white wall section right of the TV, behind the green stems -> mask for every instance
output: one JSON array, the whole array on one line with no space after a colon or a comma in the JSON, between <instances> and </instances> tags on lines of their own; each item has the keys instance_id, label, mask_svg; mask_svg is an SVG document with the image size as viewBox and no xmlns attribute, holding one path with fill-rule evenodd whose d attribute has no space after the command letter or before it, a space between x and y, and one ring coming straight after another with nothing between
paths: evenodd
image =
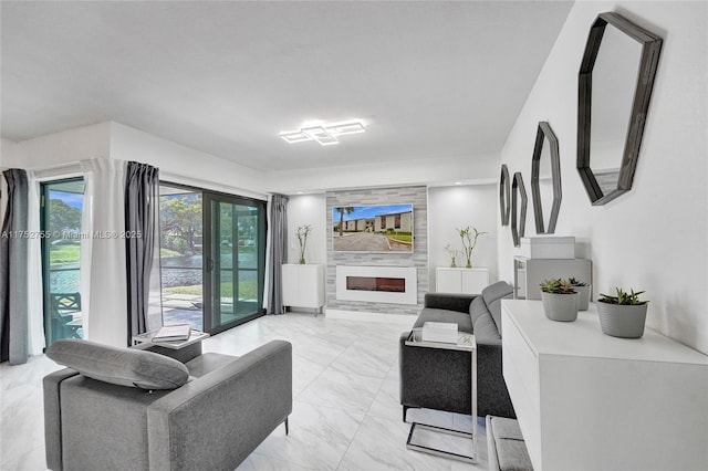
<instances>
[{"instance_id":1,"label":"white wall section right of the TV, behind the green stems","mask_svg":"<svg viewBox=\"0 0 708 471\"><path fill-rule=\"evenodd\" d=\"M428 270L430 291L436 290L435 269L450 266L450 257L445 251L448 243L462 250L456 230L466 227L489 232L480 236L472 252L472 266L488 268L489 280L498 279L497 270L497 186L460 185L428 188ZM465 255L456 259L457 266L465 266Z\"/></svg>"}]
</instances>

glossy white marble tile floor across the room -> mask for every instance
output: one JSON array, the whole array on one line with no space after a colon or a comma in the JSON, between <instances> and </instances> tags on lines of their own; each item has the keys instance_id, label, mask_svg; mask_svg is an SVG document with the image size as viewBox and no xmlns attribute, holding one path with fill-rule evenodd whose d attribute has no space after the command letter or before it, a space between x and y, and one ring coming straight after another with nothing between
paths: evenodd
<instances>
[{"instance_id":1,"label":"glossy white marble tile floor across the room","mask_svg":"<svg viewBox=\"0 0 708 471\"><path fill-rule=\"evenodd\" d=\"M398 336L413 317L361 323L304 313L264 316L205 341L205 352L242 355L271 339L293 344L290 435L279 427L238 468L251 470L486 470L483 418L476 464L406 448L410 426L398 404ZM45 470L42 377L59 369L43 355L0 365L0 469ZM466 416L409 410L417 420L460 430ZM416 431L417 443L467 453L470 441Z\"/></svg>"}]
</instances>

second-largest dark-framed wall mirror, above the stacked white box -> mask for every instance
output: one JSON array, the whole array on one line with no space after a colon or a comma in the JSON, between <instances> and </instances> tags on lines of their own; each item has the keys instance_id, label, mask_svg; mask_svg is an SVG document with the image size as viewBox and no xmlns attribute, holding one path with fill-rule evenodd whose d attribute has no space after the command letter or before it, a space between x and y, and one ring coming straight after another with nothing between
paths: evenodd
<instances>
[{"instance_id":1,"label":"second-largest dark-framed wall mirror, above the stacked white box","mask_svg":"<svg viewBox=\"0 0 708 471\"><path fill-rule=\"evenodd\" d=\"M561 158L558 138L546 122L539 123L531 158L531 195L535 232L552 234L561 209ZM543 214L549 214L545 224Z\"/></svg>"}]
</instances>

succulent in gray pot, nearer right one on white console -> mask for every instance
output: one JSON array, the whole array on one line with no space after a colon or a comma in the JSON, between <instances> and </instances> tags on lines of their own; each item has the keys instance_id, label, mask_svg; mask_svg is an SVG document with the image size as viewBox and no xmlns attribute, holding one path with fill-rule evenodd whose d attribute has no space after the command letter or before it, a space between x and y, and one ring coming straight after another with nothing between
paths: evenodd
<instances>
[{"instance_id":1,"label":"succulent in gray pot, nearer right one on white console","mask_svg":"<svg viewBox=\"0 0 708 471\"><path fill-rule=\"evenodd\" d=\"M602 332L613 337L639 338L644 335L648 301L639 300L644 291L627 293L615 287L615 295L601 294L597 300L597 314Z\"/></svg>"}]
</instances>

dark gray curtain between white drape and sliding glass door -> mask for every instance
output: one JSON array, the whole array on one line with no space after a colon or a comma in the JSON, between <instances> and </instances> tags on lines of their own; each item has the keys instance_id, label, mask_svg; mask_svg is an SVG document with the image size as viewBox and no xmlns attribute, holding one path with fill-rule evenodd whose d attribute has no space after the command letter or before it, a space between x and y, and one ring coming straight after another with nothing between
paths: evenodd
<instances>
[{"instance_id":1,"label":"dark gray curtain between white drape and sliding glass door","mask_svg":"<svg viewBox=\"0 0 708 471\"><path fill-rule=\"evenodd\" d=\"M155 250L159 241L158 205L159 170L128 161L125 176L128 345L133 335L149 329L150 279L154 269L159 273L159 250Z\"/></svg>"}]
</instances>

